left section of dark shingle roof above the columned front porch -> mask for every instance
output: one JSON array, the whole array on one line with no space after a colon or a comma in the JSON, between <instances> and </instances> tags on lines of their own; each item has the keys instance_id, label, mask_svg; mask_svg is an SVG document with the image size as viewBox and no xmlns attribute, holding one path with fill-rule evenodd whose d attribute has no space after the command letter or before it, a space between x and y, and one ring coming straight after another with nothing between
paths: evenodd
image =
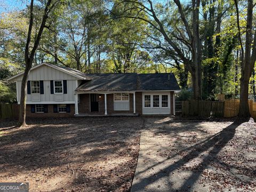
<instances>
[{"instance_id":1,"label":"left section of dark shingle roof above the columned front porch","mask_svg":"<svg viewBox=\"0 0 256 192\"><path fill-rule=\"evenodd\" d=\"M135 91L137 74L86 74L91 80L77 87L75 91Z\"/></svg>"}]
</instances>

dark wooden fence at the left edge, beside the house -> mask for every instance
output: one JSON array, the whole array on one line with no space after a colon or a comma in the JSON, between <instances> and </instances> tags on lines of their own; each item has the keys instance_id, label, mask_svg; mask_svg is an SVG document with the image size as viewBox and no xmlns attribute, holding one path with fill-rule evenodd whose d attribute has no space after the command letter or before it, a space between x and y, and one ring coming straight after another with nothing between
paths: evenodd
<instances>
[{"instance_id":1,"label":"dark wooden fence at the left edge, beside the house","mask_svg":"<svg viewBox=\"0 0 256 192\"><path fill-rule=\"evenodd\" d=\"M16 118L18 114L18 104L0 104L0 119Z\"/></svg>"}]
</instances>

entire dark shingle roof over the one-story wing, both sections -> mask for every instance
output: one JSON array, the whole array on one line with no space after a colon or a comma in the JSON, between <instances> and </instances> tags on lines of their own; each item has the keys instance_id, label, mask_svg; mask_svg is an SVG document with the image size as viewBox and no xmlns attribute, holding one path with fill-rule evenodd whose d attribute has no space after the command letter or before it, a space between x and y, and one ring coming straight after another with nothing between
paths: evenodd
<instances>
[{"instance_id":1,"label":"entire dark shingle roof over the one-story wing, both sections","mask_svg":"<svg viewBox=\"0 0 256 192\"><path fill-rule=\"evenodd\" d=\"M77 87L76 92L99 91L174 91L180 90L173 74L86 74L90 81Z\"/></svg>"}]
</instances>

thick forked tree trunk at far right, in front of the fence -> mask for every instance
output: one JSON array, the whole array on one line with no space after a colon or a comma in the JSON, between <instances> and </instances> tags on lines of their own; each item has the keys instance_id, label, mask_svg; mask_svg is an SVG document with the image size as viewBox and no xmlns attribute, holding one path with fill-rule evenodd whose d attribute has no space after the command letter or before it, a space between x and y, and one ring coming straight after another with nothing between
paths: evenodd
<instances>
[{"instance_id":1,"label":"thick forked tree trunk at far right, in front of the fence","mask_svg":"<svg viewBox=\"0 0 256 192\"><path fill-rule=\"evenodd\" d=\"M253 31L253 0L247 0L247 17L245 28L245 42L243 42L242 29L240 26L240 12L237 0L234 0L236 6L236 18L238 39L241 49L241 79L240 79L240 103L239 103L239 117L250 117L248 105L249 81L252 76L254 63L256 60L256 30ZM253 37L254 36L254 37Z\"/></svg>"}]
</instances>

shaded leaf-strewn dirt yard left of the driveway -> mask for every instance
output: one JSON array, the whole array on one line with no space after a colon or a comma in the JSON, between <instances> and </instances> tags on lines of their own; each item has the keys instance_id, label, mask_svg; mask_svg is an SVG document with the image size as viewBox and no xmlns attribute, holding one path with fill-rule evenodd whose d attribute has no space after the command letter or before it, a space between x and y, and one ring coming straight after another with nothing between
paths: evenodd
<instances>
[{"instance_id":1,"label":"shaded leaf-strewn dirt yard left of the driveway","mask_svg":"<svg viewBox=\"0 0 256 192\"><path fill-rule=\"evenodd\" d=\"M0 121L0 181L29 191L130 191L139 117Z\"/></svg>"}]
</instances>

